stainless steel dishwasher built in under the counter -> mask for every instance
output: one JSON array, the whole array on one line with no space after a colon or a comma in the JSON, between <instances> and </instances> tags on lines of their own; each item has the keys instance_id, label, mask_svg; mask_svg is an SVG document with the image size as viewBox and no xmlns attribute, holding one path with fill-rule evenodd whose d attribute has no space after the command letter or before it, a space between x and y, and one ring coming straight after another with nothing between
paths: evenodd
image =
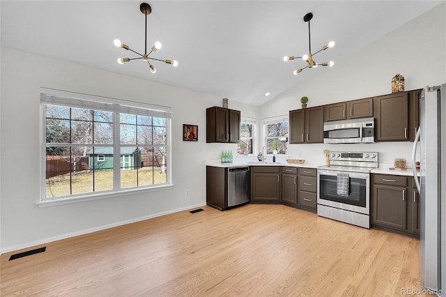
<instances>
[{"instance_id":1,"label":"stainless steel dishwasher built in under the counter","mask_svg":"<svg viewBox=\"0 0 446 297\"><path fill-rule=\"evenodd\" d=\"M249 167L228 169L228 207L249 202L250 180Z\"/></svg>"}]
</instances>

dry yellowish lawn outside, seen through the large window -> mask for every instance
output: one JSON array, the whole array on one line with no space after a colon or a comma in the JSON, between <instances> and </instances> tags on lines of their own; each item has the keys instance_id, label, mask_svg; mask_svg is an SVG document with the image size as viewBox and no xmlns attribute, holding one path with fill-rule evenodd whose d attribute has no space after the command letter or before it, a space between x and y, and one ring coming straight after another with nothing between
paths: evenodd
<instances>
[{"instance_id":1,"label":"dry yellowish lawn outside, seen through the large window","mask_svg":"<svg viewBox=\"0 0 446 297\"><path fill-rule=\"evenodd\" d=\"M141 185L157 185L166 183L167 174L160 167L143 167L138 170L121 170L121 188L132 188ZM94 188L93 188L94 183ZM81 172L72 175L70 189L70 174L47 178L47 197L74 195L89 192L113 190L113 171ZM93 190L94 189L94 190Z\"/></svg>"}]
</instances>

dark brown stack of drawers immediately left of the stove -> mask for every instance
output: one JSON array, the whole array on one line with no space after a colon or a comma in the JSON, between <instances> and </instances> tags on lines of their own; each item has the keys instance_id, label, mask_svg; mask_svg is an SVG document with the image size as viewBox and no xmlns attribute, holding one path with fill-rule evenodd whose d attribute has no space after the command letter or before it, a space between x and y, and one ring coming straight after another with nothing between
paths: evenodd
<instances>
[{"instance_id":1,"label":"dark brown stack of drawers immediately left of the stove","mask_svg":"<svg viewBox=\"0 0 446 297\"><path fill-rule=\"evenodd\" d=\"M299 168L298 206L316 212L317 169Z\"/></svg>"}]
</instances>

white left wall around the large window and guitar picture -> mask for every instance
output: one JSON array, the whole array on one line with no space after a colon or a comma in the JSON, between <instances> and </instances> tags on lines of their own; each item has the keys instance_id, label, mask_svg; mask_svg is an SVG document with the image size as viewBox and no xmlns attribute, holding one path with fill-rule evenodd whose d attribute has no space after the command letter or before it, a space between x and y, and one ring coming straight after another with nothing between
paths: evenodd
<instances>
[{"instance_id":1,"label":"white left wall around the large window and guitar picture","mask_svg":"<svg viewBox=\"0 0 446 297\"><path fill-rule=\"evenodd\" d=\"M221 98L1 48L1 252L206 204L206 160L237 144L206 144L206 108ZM172 107L173 190L39 208L40 87ZM259 107L236 104L244 116ZM183 142L183 123L199 141ZM190 190L190 196L185 195Z\"/></svg>"}]
</instances>

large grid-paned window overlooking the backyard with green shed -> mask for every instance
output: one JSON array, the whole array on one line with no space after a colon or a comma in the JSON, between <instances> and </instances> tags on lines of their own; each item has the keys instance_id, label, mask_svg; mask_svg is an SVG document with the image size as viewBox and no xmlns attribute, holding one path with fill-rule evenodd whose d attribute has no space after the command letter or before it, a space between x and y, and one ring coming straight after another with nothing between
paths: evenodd
<instances>
[{"instance_id":1,"label":"large grid-paned window overlooking the backyard with green shed","mask_svg":"<svg viewBox=\"0 0 446 297\"><path fill-rule=\"evenodd\" d=\"M171 185L169 107L41 89L40 201Z\"/></svg>"}]
</instances>

